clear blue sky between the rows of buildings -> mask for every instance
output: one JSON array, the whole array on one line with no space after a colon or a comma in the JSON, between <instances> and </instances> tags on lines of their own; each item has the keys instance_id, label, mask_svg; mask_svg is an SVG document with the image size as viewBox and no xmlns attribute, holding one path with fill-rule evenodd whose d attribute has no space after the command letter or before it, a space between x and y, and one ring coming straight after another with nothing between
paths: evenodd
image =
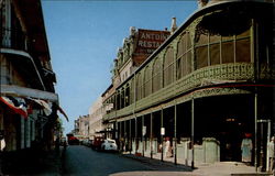
<instances>
[{"instance_id":1,"label":"clear blue sky between the rows of buildings","mask_svg":"<svg viewBox=\"0 0 275 176\"><path fill-rule=\"evenodd\" d=\"M61 117L66 134L110 86L112 63L130 26L169 29L173 16L182 25L197 0L42 0L42 9L56 94L69 117L69 122Z\"/></svg>"}]
</instances>

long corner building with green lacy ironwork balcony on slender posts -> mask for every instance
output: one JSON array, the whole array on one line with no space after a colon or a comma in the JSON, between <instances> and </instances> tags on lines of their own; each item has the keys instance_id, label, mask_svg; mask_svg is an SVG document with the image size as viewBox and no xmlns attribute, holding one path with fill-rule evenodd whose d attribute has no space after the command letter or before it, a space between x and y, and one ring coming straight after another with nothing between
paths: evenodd
<instances>
[{"instance_id":1,"label":"long corner building with green lacy ironwork balcony on slender posts","mask_svg":"<svg viewBox=\"0 0 275 176\"><path fill-rule=\"evenodd\" d=\"M187 165L242 161L266 165L274 135L273 3L212 0L196 11L103 106L120 148ZM248 134L248 135L246 135Z\"/></svg>"}]
</instances>

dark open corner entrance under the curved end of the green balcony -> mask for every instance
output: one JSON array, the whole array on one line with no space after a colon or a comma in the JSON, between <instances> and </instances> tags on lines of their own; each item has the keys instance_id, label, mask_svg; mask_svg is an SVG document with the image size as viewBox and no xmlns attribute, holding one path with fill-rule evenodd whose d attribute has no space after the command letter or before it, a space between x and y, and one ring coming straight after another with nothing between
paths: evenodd
<instances>
[{"instance_id":1,"label":"dark open corner entrance under the curved end of the green balcony","mask_svg":"<svg viewBox=\"0 0 275 176\"><path fill-rule=\"evenodd\" d=\"M241 162L241 143L245 133L253 141L253 97L217 96L195 101L195 143L215 138L220 145L221 162ZM252 157L253 158L253 157Z\"/></svg>"}]
</instances>

